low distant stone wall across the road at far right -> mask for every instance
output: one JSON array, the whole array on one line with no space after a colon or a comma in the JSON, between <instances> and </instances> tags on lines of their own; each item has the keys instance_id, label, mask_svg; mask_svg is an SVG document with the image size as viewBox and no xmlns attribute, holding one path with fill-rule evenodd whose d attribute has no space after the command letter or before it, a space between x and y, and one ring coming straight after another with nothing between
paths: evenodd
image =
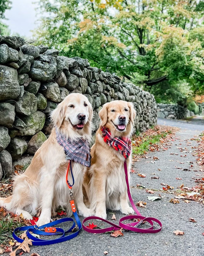
<instances>
[{"instance_id":1,"label":"low distant stone wall across the road at far right","mask_svg":"<svg viewBox=\"0 0 204 256\"><path fill-rule=\"evenodd\" d=\"M184 119L188 116L194 116L192 111L178 104L157 104L157 116L168 119Z\"/></svg>"}]
</instances>

